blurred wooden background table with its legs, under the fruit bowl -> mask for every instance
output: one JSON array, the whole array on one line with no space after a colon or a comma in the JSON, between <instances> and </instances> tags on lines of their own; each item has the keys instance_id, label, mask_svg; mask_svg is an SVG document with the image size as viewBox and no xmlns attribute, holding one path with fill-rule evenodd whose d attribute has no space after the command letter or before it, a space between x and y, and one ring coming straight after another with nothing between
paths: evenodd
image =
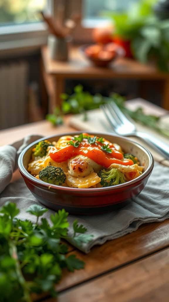
<instances>
[{"instance_id":1,"label":"blurred wooden background table with its legs, under the fruit bowl","mask_svg":"<svg viewBox=\"0 0 169 302\"><path fill-rule=\"evenodd\" d=\"M70 49L69 61L51 60L47 46L42 47L42 76L49 95L49 112L60 104L60 94L64 92L66 79L142 79L162 80L162 107L169 110L169 74L154 66L144 65L127 58L117 59L110 68L92 66L84 59L78 47ZM145 97L145 95L140 95Z\"/></svg>"}]
</instances>

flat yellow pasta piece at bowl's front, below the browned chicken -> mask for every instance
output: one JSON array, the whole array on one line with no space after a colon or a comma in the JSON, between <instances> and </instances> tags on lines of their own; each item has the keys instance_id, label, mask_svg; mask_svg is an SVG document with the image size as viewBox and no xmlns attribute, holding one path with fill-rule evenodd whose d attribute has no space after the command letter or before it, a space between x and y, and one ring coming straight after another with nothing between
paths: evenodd
<instances>
[{"instance_id":1,"label":"flat yellow pasta piece at bowl's front, below the browned chicken","mask_svg":"<svg viewBox=\"0 0 169 302\"><path fill-rule=\"evenodd\" d=\"M92 172L85 177L73 177L70 173L66 173L66 184L73 188L90 188L101 181L97 173Z\"/></svg>"}]
</instances>

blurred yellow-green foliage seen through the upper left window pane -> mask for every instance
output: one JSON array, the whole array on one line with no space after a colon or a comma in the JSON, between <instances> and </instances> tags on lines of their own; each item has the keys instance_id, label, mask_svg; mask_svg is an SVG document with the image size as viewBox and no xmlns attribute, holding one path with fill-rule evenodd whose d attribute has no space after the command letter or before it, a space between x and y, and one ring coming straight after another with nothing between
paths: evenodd
<instances>
[{"instance_id":1,"label":"blurred yellow-green foliage seen through the upper left window pane","mask_svg":"<svg viewBox=\"0 0 169 302\"><path fill-rule=\"evenodd\" d=\"M41 21L46 0L0 0L0 26Z\"/></svg>"}]
</instances>

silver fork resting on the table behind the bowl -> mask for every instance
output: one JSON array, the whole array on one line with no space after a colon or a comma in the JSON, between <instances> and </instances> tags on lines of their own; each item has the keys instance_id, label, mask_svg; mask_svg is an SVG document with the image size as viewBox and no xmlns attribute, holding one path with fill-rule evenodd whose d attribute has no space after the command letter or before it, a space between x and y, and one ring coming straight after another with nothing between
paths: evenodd
<instances>
[{"instance_id":1,"label":"silver fork resting on the table behind the bowl","mask_svg":"<svg viewBox=\"0 0 169 302\"><path fill-rule=\"evenodd\" d=\"M152 135L137 131L135 125L127 118L118 106L114 103L108 103L101 106L109 123L112 125L115 133L121 136L136 136L146 141L150 146L156 149L166 159L169 159L169 145L161 142Z\"/></svg>"}]
</instances>

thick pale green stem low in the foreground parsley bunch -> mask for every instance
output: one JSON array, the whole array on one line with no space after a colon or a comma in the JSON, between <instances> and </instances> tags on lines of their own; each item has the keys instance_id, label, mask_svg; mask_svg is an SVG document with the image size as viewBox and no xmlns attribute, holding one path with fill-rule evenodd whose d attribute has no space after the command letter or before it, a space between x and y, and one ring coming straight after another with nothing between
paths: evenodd
<instances>
[{"instance_id":1,"label":"thick pale green stem low in the foreground parsley bunch","mask_svg":"<svg viewBox=\"0 0 169 302\"><path fill-rule=\"evenodd\" d=\"M9 253L11 257L16 261L15 270L18 277L18 281L23 288L23 294L24 294L23 299L25 300L25 302L31 302L32 300L29 294L29 289L27 287L26 280L23 277L22 270L20 268L20 262L17 257L17 247L15 246L14 241L12 240L9 240Z\"/></svg>"}]
</instances>

